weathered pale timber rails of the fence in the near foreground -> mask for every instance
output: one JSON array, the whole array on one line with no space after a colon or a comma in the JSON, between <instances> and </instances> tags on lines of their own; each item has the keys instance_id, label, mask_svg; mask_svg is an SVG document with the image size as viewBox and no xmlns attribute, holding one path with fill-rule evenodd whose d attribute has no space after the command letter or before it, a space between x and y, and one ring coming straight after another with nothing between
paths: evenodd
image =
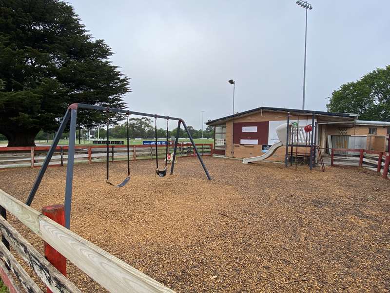
<instances>
[{"instance_id":1,"label":"weathered pale timber rails of the fence in the near foreground","mask_svg":"<svg viewBox=\"0 0 390 293\"><path fill-rule=\"evenodd\" d=\"M69 293L80 292L80 290L7 222L5 210L13 214L53 249L57 250L63 257L67 258L109 292L173 292L1 189L0 205L0 231L2 236L2 242L0 242L0 275L4 284L9 288L9 292L42 292L42 289L9 251L10 246L52 292Z\"/></svg>"}]
</instances>

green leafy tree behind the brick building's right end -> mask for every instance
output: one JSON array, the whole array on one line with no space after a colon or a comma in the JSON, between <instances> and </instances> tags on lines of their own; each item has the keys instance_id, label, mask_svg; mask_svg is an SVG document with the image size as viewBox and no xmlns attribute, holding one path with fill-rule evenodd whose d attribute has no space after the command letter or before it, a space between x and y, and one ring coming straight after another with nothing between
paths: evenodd
<instances>
[{"instance_id":1,"label":"green leafy tree behind the brick building's right end","mask_svg":"<svg viewBox=\"0 0 390 293\"><path fill-rule=\"evenodd\" d=\"M390 65L333 91L330 112L357 113L359 119L390 121Z\"/></svg>"}]
</instances>

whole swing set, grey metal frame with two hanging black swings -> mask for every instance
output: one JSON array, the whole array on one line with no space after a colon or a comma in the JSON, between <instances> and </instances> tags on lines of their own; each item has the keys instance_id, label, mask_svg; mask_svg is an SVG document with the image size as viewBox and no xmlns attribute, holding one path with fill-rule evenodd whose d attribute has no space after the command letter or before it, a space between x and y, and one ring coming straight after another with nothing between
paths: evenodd
<instances>
[{"instance_id":1,"label":"whole swing set, grey metal frame with two hanging black swings","mask_svg":"<svg viewBox=\"0 0 390 293\"><path fill-rule=\"evenodd\" d=\"M175 167L175 157L176 157L176 149L177 149L177 143L179 139L179 131L180 131L180 125L183 125L184 130L187 132L188 137L190 138L191 144L194 147L196 156L203 167L203 170L206 174L206 177L208 180L211 180L209 171L207 170L207 167L204 165L202 157L200 156L196 145L194 143L194 140L188 131L187 125L181 118L175 118L175 117L169 117L169 116L162 116L162 115L156 115L156 114L149 114L149 113L142 113L142 112L135 112L135 111L129 111L129 110L122 110L122 109L116 109L116 108L110 108L110 107L103 107L103 106L96 106L96 105L87 105L87 104L72 104L68 107L66 110L65 116L62 118L61 124L59 126L58 131L56 132L56 135L53 140L53 144L50 146L50 149L45 157L45 160L43 161L43 164L41 168L39 169L39 173L37 176L37 179L35 180L35 183L33 185L33 188L31 189L28 198L26 200L26 205L31 206L31 203L34 200L35 194L37 193L37 190L39 188L39 184L42 181L43 175L46 172L47 167L49 166L50 160L53 156L54 151L56 150L56 147L59 143L59 139L67 126L68 122L70 121L70 130L69 130L69 149L68 149L68 164L66 167L66 182L65 182L65 227L67 229L70 228L70 213L71 213L71 204L72 204L72 189L73 189L73 167L74 167L74 160L75 160L75 141L76 141L76 124L77 124L77 111L78 108L80 109L87 109L87 110L98 110L102 112L107 113L107 142L106 142L106 148L107 148L107 162L106 162L106 182L107 184L121 188L125 186L130 181L130 142L129 142L129 116L130 115L137 115L137 116L146 116L146 117L154 117L155 118L155 133L156 133L156 174L159 177L164 177L167 174L167 160L165 160L165 167L163 170L159 170L158 168L158 158L157 158L157 118L162 118L167 120L167 142L166 142L166 156L168 155L168 122L169 120L176 120L177 123L177 133L176 133L176 140L174 145L174 152L173 152L173 158L172 158L172 164L171 164L171 171L170 174L172 175L174 173L174 167ZM114 113L122 113L127 114L127 177L119 184L115 185L110 182L109 180L109 112Z\"/></svg>"}]
</instances>

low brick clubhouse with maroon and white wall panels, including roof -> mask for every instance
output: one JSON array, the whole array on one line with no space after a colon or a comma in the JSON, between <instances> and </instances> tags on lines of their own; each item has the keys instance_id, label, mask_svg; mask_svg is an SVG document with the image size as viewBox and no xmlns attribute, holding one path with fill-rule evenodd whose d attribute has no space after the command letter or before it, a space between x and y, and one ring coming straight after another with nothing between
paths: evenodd
<instances>
[{"instance_id":1,"label":"low brick clubhouse with maroon and white wall panels, including roof","mask_svg":"<svg viewBox=\"0 0 390 293\"><path fill-rule=\"evenodd\" d=\"M361 121L357 114L331 113L299 109L259 107L234 115L209 120L206 124L215 126L215 154L234 158L259 156L278 142L275 128L290 121L302 128L317 126L315 142L323 152L327 147L367 148L388 150L390 122ZM279 147L269 158L284 161L285 147ZM300 152L310 149L301 148Z\"/></svg>"}]
</instances>

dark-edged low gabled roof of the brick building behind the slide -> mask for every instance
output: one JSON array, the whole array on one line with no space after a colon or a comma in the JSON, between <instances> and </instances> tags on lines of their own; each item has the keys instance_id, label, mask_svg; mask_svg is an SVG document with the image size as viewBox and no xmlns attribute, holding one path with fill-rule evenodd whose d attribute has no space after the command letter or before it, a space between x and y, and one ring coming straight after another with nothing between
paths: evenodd
<instances>
[{"instance_id":1,"label":"dark-edged low gabled roof of the brick building behind the slide","mask_svg":"<svg viewBox=\"0 0 390 293\"><path fill-rule=\"evenodd\" d=\"M206 124L207 125L218 125L222 122L241 117L241 116L247 116L256 112L260 111L275 111L275 112L292 112L292 113L302 113L302 114L307 114L307 115L314 115L318 116L332 116L332 117L340 117L340 118L350 118L350 119L356 119L357 114L352 114L352 113L337 113L337 112L325 112L325 111L313 111L313 110L302 110L302 109L287 109L287 108L275 108L275 107L258 107L254 108L252 110L244 111L244 112L239 112L234 115L229 115L225 116L222 118L218 118L215 120L210 120Z\"/></svg>"}]
</instances>

